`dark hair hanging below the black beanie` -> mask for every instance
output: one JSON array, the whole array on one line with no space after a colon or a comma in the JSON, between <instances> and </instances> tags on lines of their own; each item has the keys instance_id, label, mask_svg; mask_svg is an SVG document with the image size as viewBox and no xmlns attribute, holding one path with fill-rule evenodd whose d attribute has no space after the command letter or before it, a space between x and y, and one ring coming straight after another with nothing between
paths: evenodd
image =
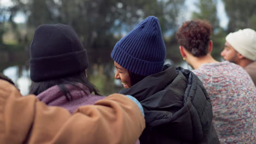
<instances>
[{"instance_id":1,"label":"dark hair hanging below the black beanie","mask_svg":"<svg viewBox=\"0 0 256 144\"><path fill-rule=\"evenodd\" d=\"M84 91L84 89L79 86L80 84L88 87L91 93L94 92L96 95L100 95L98 94L95 86L86 78L85 71L83 71L80 74L72 75L69 77L63 77L60 79L32 82L32 85L30 87L30 94L38 95L44 92L46 89L57 85L59 86L61 92L65 95L66 99L69 101L72 100L72 95L69 93L65 85L72 85Z\"/></svg>"}]
</instances>

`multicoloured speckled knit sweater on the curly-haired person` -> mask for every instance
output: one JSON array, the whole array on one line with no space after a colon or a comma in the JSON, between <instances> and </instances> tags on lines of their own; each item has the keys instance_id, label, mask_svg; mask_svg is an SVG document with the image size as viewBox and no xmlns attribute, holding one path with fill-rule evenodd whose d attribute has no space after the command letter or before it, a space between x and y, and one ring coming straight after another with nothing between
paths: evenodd
<instances>
[{"instance_id":1,"label":"multicoloured speckled knit sweater on the curly-haired person","mask_svg":"<svg viewBox=\"0 0 256 144\"><path fill-rule=\"evenodd\" d=\"M210 95L220 143L254 143L256 88L246 71L230 62L193 70Z\"/></svg>"}]
</instances>

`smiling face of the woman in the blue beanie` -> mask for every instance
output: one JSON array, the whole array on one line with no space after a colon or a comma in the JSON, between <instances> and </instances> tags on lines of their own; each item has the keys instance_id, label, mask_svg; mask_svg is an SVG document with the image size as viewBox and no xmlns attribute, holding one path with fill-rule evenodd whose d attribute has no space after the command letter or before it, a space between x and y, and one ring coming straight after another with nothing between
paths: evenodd
<instances>
[{"instance_id":1,"label":"smiling face of the woman in the blue beanie","mask_svg":"<svg viewBox=\"0 0 256 144\"><path fill-rule=\"evenodd\" d=\"M115 65L115 79L120 79L124 88L131 87L131 78L129 75L129 71L125 68L121 67L117 62L114 62Z\"/></svg>"}]
</instances>

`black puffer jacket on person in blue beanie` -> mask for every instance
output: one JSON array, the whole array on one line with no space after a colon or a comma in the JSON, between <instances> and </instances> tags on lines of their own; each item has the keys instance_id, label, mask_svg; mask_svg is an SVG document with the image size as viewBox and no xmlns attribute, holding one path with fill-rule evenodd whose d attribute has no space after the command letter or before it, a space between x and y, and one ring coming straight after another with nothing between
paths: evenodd
<instances>
[{"instance_id":1,"label":"black puffer jacket on person in blue beanie","mask_svg":"<svg viewBox=\"0 0 256 144\"><path fill-rule=\"evenodd\" d=\"M141 143L219 143L210 98L191 71L165 65L120 93L133 95L144 108Z\"/></svg>"}]
</instances>

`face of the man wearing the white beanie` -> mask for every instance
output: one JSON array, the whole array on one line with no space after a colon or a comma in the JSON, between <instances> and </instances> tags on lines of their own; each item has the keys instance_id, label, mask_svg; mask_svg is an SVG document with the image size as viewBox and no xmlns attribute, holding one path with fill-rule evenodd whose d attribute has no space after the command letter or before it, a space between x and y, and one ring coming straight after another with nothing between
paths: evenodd
<instances>
[{"instance_id":1,"label":"face of the man wearing the white beanie","mask_svg":"<svg viewBox=\"0 0 256 144\"><path fill-rule=\"evenodd\" d=\"M226 41L224 50L220 53L223 59L236 63L238 60L238 52Z\"/></svg>"}]
</instances>

